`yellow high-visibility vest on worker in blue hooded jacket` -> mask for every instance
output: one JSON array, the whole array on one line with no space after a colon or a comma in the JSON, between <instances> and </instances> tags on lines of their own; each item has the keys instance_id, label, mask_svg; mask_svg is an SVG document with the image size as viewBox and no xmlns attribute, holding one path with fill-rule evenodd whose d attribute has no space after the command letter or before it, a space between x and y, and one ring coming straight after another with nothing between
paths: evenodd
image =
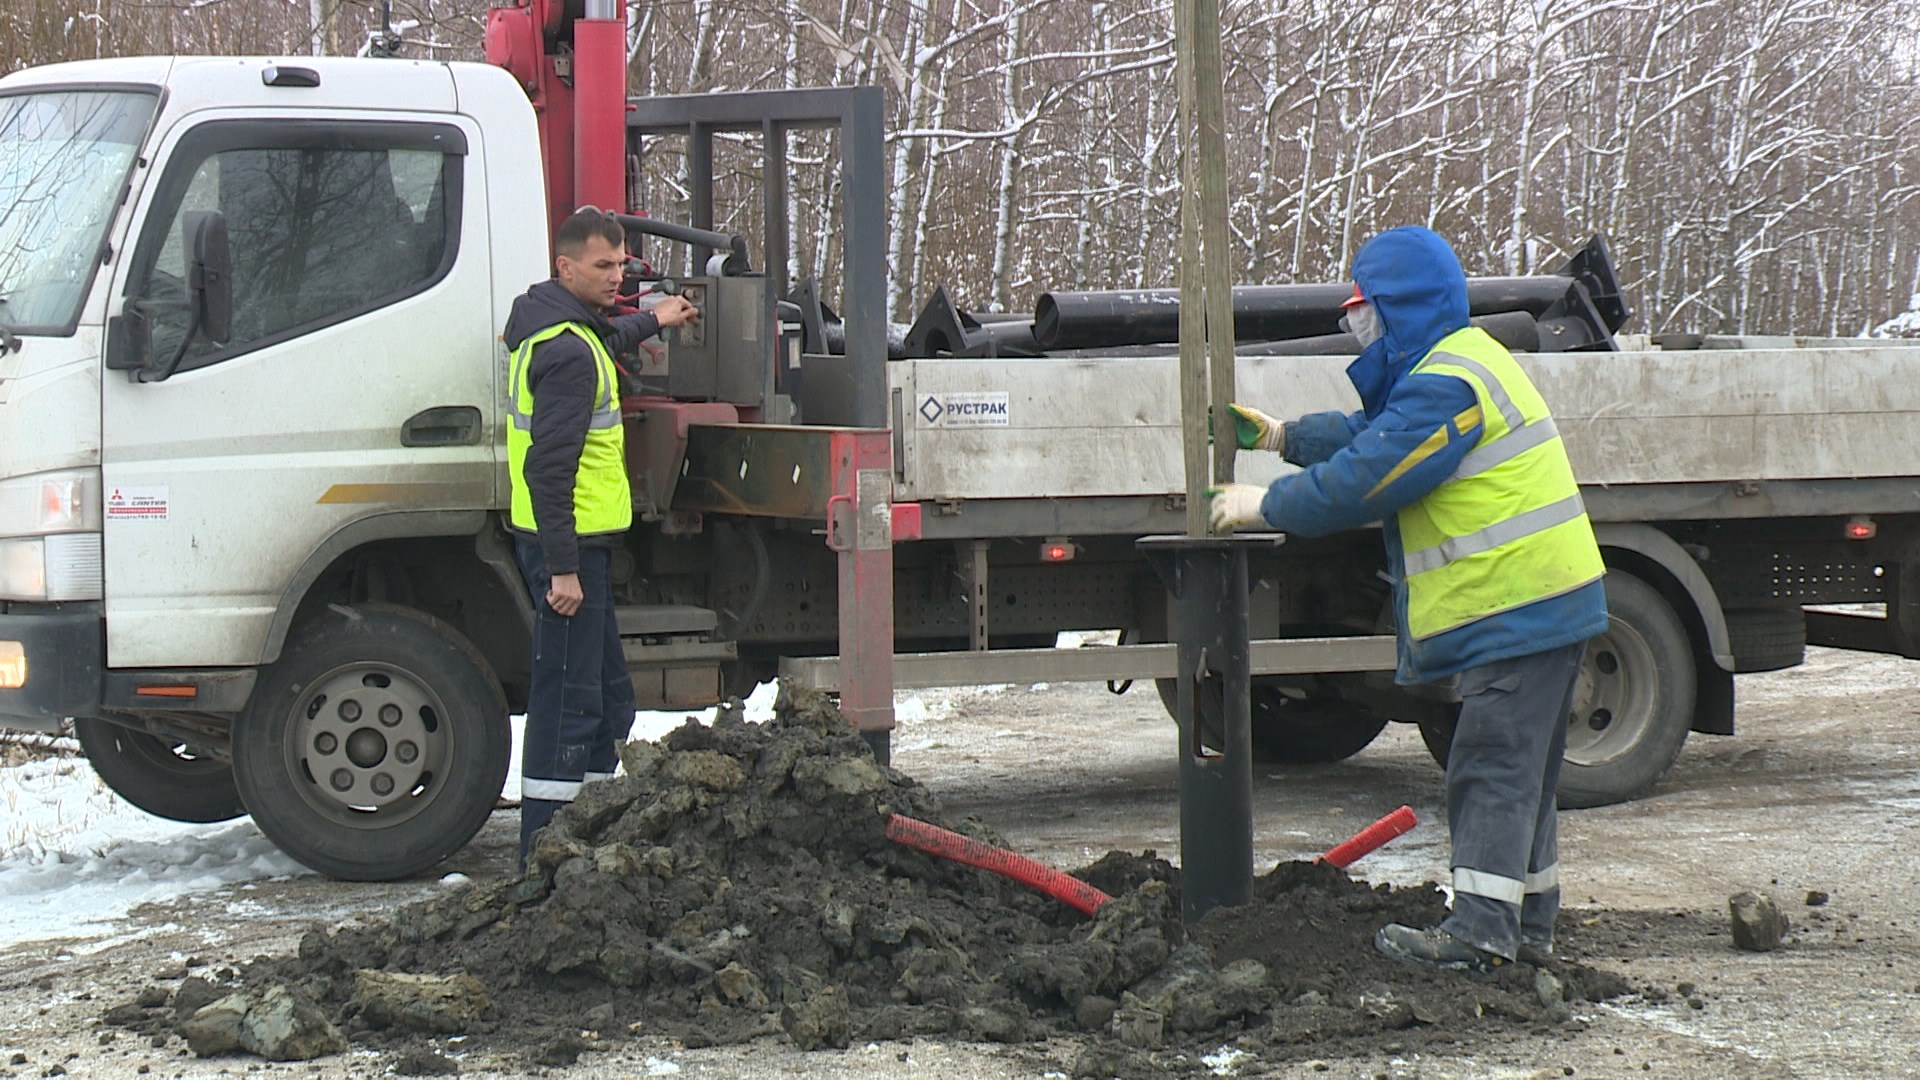
<instances>
[{"instance_id":1,"label":"yellow high-visibility vest on worker in blue hooded jacket","mask_svg":"<svg viewBox=\"0 0 1920 1080\"><path fill-rule=\"evenodd\" d=\"M1400 511L1407 634L1444 634L1605 573L1546 400L1484 331L1448 334L1415 373L1473 386L1480 440L1438 488Z\"/></svg>"}]
</instances>

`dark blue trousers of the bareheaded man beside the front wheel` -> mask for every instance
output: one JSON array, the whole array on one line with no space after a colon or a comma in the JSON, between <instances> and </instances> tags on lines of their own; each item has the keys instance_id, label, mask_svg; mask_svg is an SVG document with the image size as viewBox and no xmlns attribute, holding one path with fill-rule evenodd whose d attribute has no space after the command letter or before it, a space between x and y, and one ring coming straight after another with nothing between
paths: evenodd
<instances>
[{"instance_id":1,"label":"dark blue trousers of the bareheaded man beside the front wheel","mask_svg":"<svg viewBox=\"0 0 1920 1080\"><path fill-rule=\"evenodd\" d=\"M614 623L612 550L580 546L580 592L570 617L547 605L547 555L515 536L515 555L534 598L534 678L520 742L520 867L559 809L588 780L612 776L618 746L634 728L634 678Z\"/></svg>"}]
</instances>

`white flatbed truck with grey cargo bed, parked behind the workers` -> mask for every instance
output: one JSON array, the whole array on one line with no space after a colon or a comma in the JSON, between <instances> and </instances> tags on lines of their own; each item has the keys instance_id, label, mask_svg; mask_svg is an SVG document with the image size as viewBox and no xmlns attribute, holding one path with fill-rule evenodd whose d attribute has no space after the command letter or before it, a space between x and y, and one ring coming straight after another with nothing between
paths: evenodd
<instances>
[{"instance_id":1,"label":"white flatbed truck with grey cargo bed, parked behind the workers","mask_svg":"<svg viewBox=\"0 0 1920 1080\"><path fill-rule=\"evenodd\" d=\"M772 133L822 100L676 108ZM877 90L831 100L868 117L847 131L849 208L877 215ZM632 148L678 123L655 106L628 110ZM551 158L526 79L493 65L132 58L0 81L0 723L71 717L134 805L252 813L336 876L419 872L478 830L530 625L501 525L497 331L547 275ZM864 311L872 240L849 242ZM893 682L1173 673L1133 546L1183 521L1171 361L801 363L772 284L732 273L684 284L741 350L676 340L666 371L636 371L643 505L618 578L643 705L710 703L781 667L847 682L835 632L858 594L818 532L887 548L887 505ZM1732 732L1734 673L1799 663L1807 640L1920 655L1903 586L1920 350L1690 344L1530 361L1613 569L1613 628L1569 717L1569 805L1634 798L1690 730ZM1342 365L1246 357L1240 398L1352 407ZM849 540L831 502L787 490L826 454L766 423L795 413L893 429L877 532L862 519ZM1384 680L1379 575L1379 546L1352 536L1256 565L1258 751L1334 761L1402 719L1444 757L1448 703ZM1046 648L1071 628L1127 636Z\"/></svg>"}]
</instances>

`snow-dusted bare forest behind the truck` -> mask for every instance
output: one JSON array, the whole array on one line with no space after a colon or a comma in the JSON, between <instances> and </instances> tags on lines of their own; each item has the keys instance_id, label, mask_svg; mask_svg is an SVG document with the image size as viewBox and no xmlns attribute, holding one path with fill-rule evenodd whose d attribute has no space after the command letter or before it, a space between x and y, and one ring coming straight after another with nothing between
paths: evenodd
<instances>
[{"instance_id":1,"label":"snow-dusted bare forest behind the truck","mask_svg":"<svg viewBox=\"0 0 1920 1080\"><path fill-rule=\"evenodd\" d=\"M476 0L394 0L405 56L480 58ZM10 0L0 67L359 52L369 0ZM1173 281L1167 0L674 0L630 17L636 94L887 88L891 307ZM1920 292L1912 0L1227 0L1235 277L1338 281L1388 225L1469 273L1607 233L1638 331L1855 334ZM674 215L672 148L649 209ZM758 229L756 142L720 154ZM831 296L833 146L797 138L793 269Z\"/></svg>"}]
</instances>

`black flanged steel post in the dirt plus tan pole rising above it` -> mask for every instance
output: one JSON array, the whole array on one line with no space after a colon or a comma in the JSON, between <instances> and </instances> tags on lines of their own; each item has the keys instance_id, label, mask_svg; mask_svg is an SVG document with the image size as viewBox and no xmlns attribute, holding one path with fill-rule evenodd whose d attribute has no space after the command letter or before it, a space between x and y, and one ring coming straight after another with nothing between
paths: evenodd
<instances>
[{"instance_id":1,"label":"black flanged steel post in the dirt plus tan pole rising above it","mask_svg":"<svg viewBox=\"0 0 1920 1080\"><path fill-rule=\"evenodd\" d=\"M1169 594L1179 648L1181 917L1198 920L1254 894L1252 671L1248 550L1277 536L1213 536L1208 496L1233 480L1235 332L1227 242L1227 140L1219 0L1175 0L1181 119L1181 446L1187 534L1146 536ZM1221 438L1210 452L1210 413ZM1206 746L1210 724L1219 746Z\"/></svg>"}]
</instances>

